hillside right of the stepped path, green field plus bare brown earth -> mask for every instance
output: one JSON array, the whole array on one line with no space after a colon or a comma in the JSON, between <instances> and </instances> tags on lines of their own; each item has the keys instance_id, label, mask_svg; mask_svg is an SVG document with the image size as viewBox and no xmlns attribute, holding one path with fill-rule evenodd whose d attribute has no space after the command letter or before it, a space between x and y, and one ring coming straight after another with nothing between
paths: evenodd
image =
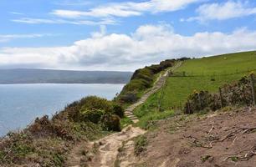
<instances>
[{"instance_id":1,"label":"hillside right of the stepped path, green field plus bare brown earth","mask_svg":"<svg viewBox=\"0 0 256 167\"><path fill-rule=\"evenodd\" d=\"M117 166L255 166L256 109L247 77L255 68L255 52L183 62L161 90L134 110L140 120L136 125L147 132L120 147ZM188 100L209 102L205 92L220 101L219 88L233 104L184 114Z\"/></svg>"}]
</instances>

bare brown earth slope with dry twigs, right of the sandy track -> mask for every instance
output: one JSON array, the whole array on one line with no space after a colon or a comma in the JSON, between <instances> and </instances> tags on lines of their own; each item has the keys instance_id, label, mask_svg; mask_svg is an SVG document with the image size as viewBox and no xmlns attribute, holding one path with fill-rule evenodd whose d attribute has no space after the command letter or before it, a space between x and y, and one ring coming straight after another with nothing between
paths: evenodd
<instances>
[{"instance_id":1,"label":"bare brown earth slope with dry twigs, right of the sandy track","mask_svg":"<svg viewBox=\"0 0 256 167\"><path fill-rule=\"evenodd\" d=\"M256 109L161 120L139 162L126 166L255 167Z\"/></svg>"}]
</instances>

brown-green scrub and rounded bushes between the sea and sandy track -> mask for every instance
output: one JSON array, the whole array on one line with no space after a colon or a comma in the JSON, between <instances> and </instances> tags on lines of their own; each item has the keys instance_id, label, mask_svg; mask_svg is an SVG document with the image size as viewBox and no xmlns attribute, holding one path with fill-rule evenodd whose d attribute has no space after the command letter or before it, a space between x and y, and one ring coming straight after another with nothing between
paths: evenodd
<instances>
[{"instance_id":1,"label":"brown-green scrub and rounded bushes between the sea and sandy track","mask_svg":"<svg viewBox=\"0 0 256 167\"><path fill-rule=\"evenodd\" d=\"M123 109L112 101L95 96L81 99L52 119L36 119L22 132L1 139L0 165L63 166L75 142L119 131L123 115Z\"/></svg>"}]
</instances>

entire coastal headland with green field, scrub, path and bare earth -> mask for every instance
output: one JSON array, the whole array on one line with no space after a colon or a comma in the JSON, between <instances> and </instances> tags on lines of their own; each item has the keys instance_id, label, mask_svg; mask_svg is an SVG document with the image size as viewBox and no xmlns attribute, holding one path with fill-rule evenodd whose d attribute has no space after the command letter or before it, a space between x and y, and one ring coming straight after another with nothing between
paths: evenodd
<instances>
[{"instance_id":1,"label":"entire coastal headland with green field, scrub, path and bare earth","mask_svg":"<svg viewBox=\"0 0 256 167\"><path fill-rule=\"evenodd\" d=\"M166 60L138 69L113 101L81 99L53 119L36 119L0 139L0 164L253 167L256 110L246 76L253 76L255 64L256 53L247 52ZM219 107L215 93L220 87L232 95L227 97L233 104ZM205 108L212 103L206 92L219 108ZM185 114L188 100L202 102L201 108ZM136 124L124 108L136 115Z\"/></svg>"}]
</instances>

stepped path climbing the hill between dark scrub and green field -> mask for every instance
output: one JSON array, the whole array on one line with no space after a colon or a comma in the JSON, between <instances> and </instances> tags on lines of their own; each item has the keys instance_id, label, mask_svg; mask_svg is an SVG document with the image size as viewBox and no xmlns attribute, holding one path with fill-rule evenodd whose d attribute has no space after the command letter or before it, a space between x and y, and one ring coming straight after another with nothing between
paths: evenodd
<instances>
[{"instance_id":1,"label":"stepped path climbing the hill between dark scrub and green field","mask_svg":"<svg viewBox=\"0 0 256 167\"><path fill-rule=\"evenodd\" d=\"M151 88L150 91L148 91L146 94L144 94L141 99L139 99L135 104L131 104L127 109L125 109L125 115L131 119L134 123L139 122L139 119L136 117L136 115L133 114L133 110L136 109L137 106L143 104L146 102L146 99L150 97L151 94L156 93L157 90L161 89L161 87L165 84L166 78L168 77L168 74L171 70L174 70L176 68L179 68L182 65L182 62L177 63L174 67L166 70L166 73L161 74L154 84L153 88Z\"/></svg>"}]
</instances>

